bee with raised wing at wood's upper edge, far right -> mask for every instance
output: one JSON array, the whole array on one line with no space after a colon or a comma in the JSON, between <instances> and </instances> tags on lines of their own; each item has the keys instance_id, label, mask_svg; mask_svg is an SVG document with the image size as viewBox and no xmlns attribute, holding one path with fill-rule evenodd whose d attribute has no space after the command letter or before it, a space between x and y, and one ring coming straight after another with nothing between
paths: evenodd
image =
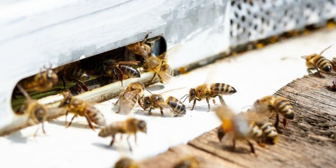
<instances>
[{"instance_id":1,"label":"bee with raised wing at wood's upper edge, far right","mask_svg":"<svg viewBox=\"0 0 336 168\"><path fill-rule=\"evenodd\" d=\"M322 53L330 47L331 46L321 51L320 54L313 53L311 55L304 55L301 57L302 59L306 60L305 65L307 66L308 73L312 73L311 70L316 69L319 76L322 77L320 70L323 70L325 72L331 72L332 67L335 65L333 65L333 63L325 57L322 57Z\"/></svg>"}]
</instances>

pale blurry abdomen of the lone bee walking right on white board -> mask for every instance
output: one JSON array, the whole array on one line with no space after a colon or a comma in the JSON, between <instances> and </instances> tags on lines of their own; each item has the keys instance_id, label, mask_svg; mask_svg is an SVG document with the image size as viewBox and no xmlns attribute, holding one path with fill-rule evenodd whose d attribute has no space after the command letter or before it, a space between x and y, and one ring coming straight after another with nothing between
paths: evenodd
<instances>
[{"instance_id":1,"label":"pale blurry abdomen of the lone bee walking right on white board","mask_svg":"<svg viewBox=\"0 0 336 168\"><path fill-rule=\"evenodd\" d=\"M103 129L101 129L98 136L101 137L114 136L117 133L126 133L126 129L127 129L127 123L118 121L110 125L107 125Z\"/></svg>"}]
</instances>

